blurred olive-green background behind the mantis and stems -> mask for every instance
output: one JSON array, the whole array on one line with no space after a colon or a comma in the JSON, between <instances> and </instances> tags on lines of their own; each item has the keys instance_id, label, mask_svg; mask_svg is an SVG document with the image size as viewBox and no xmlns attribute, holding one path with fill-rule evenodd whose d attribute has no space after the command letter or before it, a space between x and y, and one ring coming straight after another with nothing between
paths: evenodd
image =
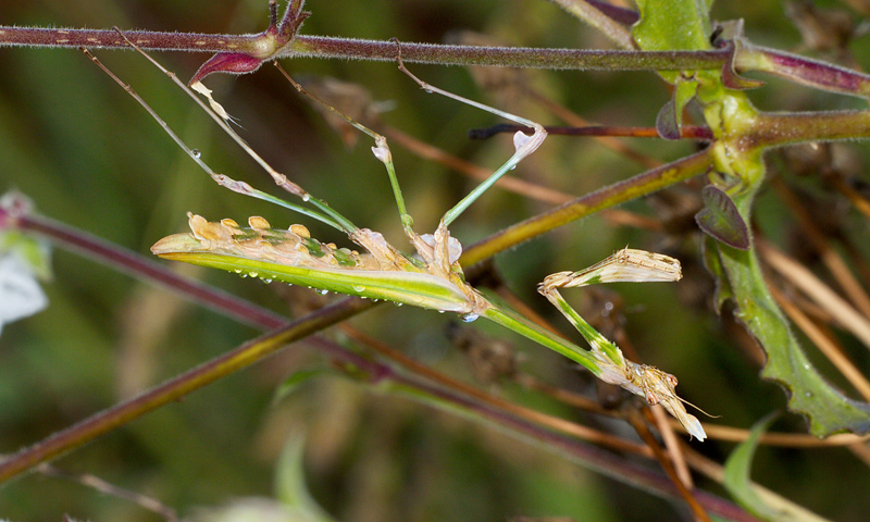
<instances>
[{"instance_id":1,"label":"blurred olive-green background behind the mantis and stems","mask_svg":"<svg viewBox=\"0 0 870 522\"><path fill-rule=\"evenodd\" d=\"M0 5L0 24L7 25L253 33L268 23L265 0L67 0ZM468 29L506 45L609 47L600 35L543 0L310 0L306 7L313 15L302 33L311 35L438 42ZM717 5L713 17L744 17L754 41L797 49L800 35L783 10L780 2L728 1ZM870 63L868 38L855 40L850 49L858 63ZM268 176L142 57L122 51L96 54L188 145L199 149L215 171L260 188L271 187ZM152 55L182 79L190 77L207 58L178 52ZM381 115L384 124L478 164L494 169L511 153L507 137L484 142L467 137L471 127L500 123L496 117L424 94L394 64L300 59L285 60L284 66L294 75L358 83L373 99L395 105ZM421 65L411 70L452 92L543 123L559 123L529 99L484 92L467 70ZM214 185L127 94L78 51L2 48L0 72L0 190L23 191L47 216L146 256L157 239L186 229L187 211L239 222L263 215L282 227L304 222ZM649 73L529 72L527 79L584 117L614 125L652 125L669 97L664 84ZM278 171L358 225L403 245L383 165L372 158L366 137L361 136L355 147L343 144L271 66L254 75L210 77L206 84L238 119L243 138ZM859 107L854 100L776 80L751 96L768 110ZM659 140L630 144L660 160L678 158L693 147ZM866 164L865 145L849 150ZM396 145L393 152L419 231L433 229L440 213L473 186L468 178ZM595 141L551 137L515 175L582 195L641 170ZM779 203L762 197L759 204L766 206L759 212L766 232L787 237L791 223ZM547 208L493 189L452 232L470 245ZM625 208L652 214L645 201ZM340 234L304 223L319 239L347 245ZM866 234L866 225L858 232ZM663 234L616 226L593 216L499 256L496 265L525 302L564 326L536 295L536 283L552 272L586 266L625 245L668 248L684 256L687 265L697 254L697 237L675 243ZM257 334L75 253L57 250L53 269L54 281L46 285L50 308L7 325L0 336L0 452L41 439ZM290 309L300 313L312 306L309 294L288 295L231 274L177 269L281 313L291 313ZM741 351L729 330L703 306L686 306L679 287L635 285L618 290L626 307L625 327L644 361L678 375L682 395L721 415L716 422L748 427L783 407L782 391L759 382L756 359ZM700 300L694 302L706 304L709 291L701 283ZM569 294L569 299L579 302L580 294ZM352 323L426 364L471 380L468 362L445 334L456 321L409 307L382 306ZM529 373L589 390L588 380L566 360L490 325L478 322L474 327L514 341ZM867 370L866 355L862 361ZM57 464L153 496L187 515L197 507L272 496L277 456L290 433L301 431L307 435L306 475L311 493L339 520L482 521L524 514L604 522L673 520L682 510L492 427L374 393L341 377L319 377L289 397L273 400L276 386L289 375L325 364L304 344L296 345ZM530 397L514 385L489 389L545 411L585 419ZM803 421L790 415L774 427L800 431ZM613 428L627 431L623 424ZM709 442L697 447L721 461L733 445ZM868 468L844 449L762 448L754 476L834 520L867 520L870 513ZM703 480L700 484L721 494L714 485ZM0 518L51 521L64 513L95 521L160 520L132 502L36 473L0 487Z\"/></svg>"}]
</instances>

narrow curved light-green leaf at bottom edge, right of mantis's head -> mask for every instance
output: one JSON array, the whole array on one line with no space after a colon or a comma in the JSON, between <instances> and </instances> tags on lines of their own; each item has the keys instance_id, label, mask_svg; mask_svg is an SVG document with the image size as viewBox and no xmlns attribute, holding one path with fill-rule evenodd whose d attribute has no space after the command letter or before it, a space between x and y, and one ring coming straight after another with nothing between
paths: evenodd
<instances>
[{"instance_id":1,"label":"narrow curved light-green leaf at bottom edge, right of mantis's head","mask_svg":"<svg viewBox=\"0 0 870 522\"><path fill-rule=\"evenodd\" d=\"M734 500L741 506L746 508L750 513L755 514L767 521L784 521L785 513L774 509L758 495L753 487L753 482L749 478L751 470L753 457L755 449L758 446L758 439L762 433L770 427L770 424L776 420L775 412L766 415L758 421L749 433L749 438L743 442L739 446L734 448L734 451L725 461L724 482L723 485L729 490ZM794 520L794 519L788 519Z\"/></svg>"}]
</instances>

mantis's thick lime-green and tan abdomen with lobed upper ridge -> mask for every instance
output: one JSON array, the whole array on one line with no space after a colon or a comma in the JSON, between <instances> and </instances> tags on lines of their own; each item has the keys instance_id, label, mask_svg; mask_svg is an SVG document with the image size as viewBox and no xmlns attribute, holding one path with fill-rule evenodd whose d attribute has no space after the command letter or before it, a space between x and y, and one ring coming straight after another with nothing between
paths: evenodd
<instances>
[{"instance_id":1,"label":"mantis's thick lime-green and tan abdomen with lobed upper ridge","mask_svg":"<svg viewBox=\"0 0 870 522\"><path fill-rule=\"evenodd\" d=\"M459 268L459 241L442 225L434 235L413 234L418 257L394 248L384 236L358 228L350 239L360 253L312 239L302 225L272 228L253 216L249 227L233 220L209 222L188 213L190 233L165 237L151 247L164 259L228 270L244 276L304 285L372 299L457 312L484 313L489 303L468 285Z\"/></svg>"}]
</instances>

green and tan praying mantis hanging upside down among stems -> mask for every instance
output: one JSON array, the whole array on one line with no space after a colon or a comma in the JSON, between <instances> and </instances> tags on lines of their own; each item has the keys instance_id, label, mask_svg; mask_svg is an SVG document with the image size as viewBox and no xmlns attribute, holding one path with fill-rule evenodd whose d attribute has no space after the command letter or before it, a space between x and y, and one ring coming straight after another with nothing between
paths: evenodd
<instances>
[{"instance_id":1,"label":"green and tan praying mantis hanging upside down among stems","mask_svg":"<svg viewBox=\"0 0 870 522\"><path fill-rule=\"evenodd\" d=\"M299 224L293 225L288 229L277 229L273 228L263 217L252 216L248 219L248 226L243 227L229 219L209 222L200 215L188 213L190 233L174 234L159 240L151 247L151 251L154 254L167 260L222 269L243 276L259 277L268 282L278 281L304 285L321 291L335 291L369 299L384 299L439 312L455 312L468 322L477 318L485 318L569 358L589 370L598 378L619 385L635 395L644 397L650 406L661 405L680 421L692 436L698 440L706 438L706 433L700 422L697 418L686 412L683 406L684 401L678 397L674 390L678 384L675 376L654 366L627 360L617 345L589 325L559 293L561 288L581 287L596 283L679 281L681 278L681 269L679 261L675 259L663 254L624 248L588 269L580 272L552 274L538 285L538 291L571 322L589 344L591 350L583 349L545 331L505 306L492 302L465 282L462 268L459 264L462 246L458 239L450 235L448 226L501 176L515 167L517 164L532 154L544 142L547 132L542 125L462 98L421 80L408 71L402 63L401 50L398 42L396 42L396 61L399 70L426 92L439 94L533 129L531 135L518 132L513 137L515 151L508 161L448 210L442 216L434 233L420 235L414 231L413 219L406 208L386 138L320 101L282 70L282 73L297 90L323 103L328 111L343 117L350 125L374 140L375 145L372 147L372 152L386 167L402 231L415 252L414 254L408 254L390 245L382 234L356 226L323 200L314 198L300 186L287 179L285 175L272 169L227 124L231 121L229 116L211 98L211 91L208 88L199 82L194 83L188 88L174 74L163 69L162 65L138 49L120 30L119 33L132 48L138 50L151 63L167 74L209 113L225 133L263 166L279 187L299 197L302 203L306 204L285 201L257 190L247 183L232 179L212 171L202 160L201 154L196 149L185 145L145 100L103 67L95 57L89 54L95 63L102 67L107 74L112 76L115 82L122 85L127 92L148 110L176 144L216 183L236 192L271 201L337 228L347 234L353 244L364 250L361 253L348 248L338 248L334 244L323 244L313 239L308 228ZM207 105L198 98L191 91L191 88L204 95L209 104Z\"/></svg>"}]
</instances>

